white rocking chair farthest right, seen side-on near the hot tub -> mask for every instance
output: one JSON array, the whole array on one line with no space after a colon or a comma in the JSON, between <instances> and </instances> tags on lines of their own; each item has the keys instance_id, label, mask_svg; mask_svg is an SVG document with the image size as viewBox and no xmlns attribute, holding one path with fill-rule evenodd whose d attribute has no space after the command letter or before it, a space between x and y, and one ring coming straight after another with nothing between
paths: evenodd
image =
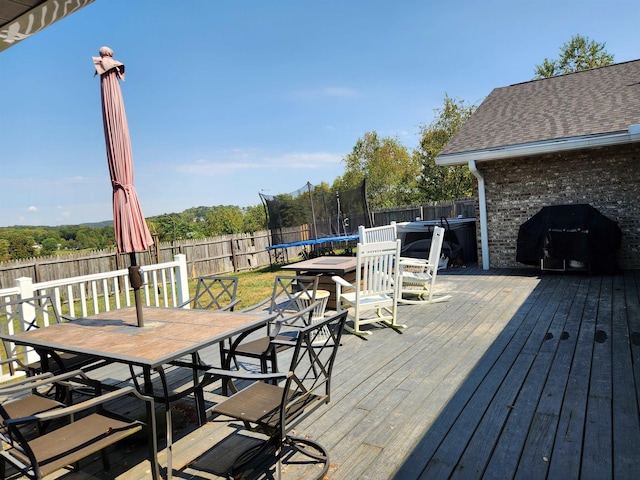
<instances>
[{"instance_id":1,"label":"white rocking chair farthest right, seen side-on near the hot tub","mask_svg":"<svg viewBox=\"0 0 640 480\"><path fill-rule=\"evenodd\" d=\"M451 295L448 294L435 294L444 232L444 228L434 227L427 262L407 257L401 259L401 302L410 304L436 303L451 298Z\"/></svg>"}]
</instances>

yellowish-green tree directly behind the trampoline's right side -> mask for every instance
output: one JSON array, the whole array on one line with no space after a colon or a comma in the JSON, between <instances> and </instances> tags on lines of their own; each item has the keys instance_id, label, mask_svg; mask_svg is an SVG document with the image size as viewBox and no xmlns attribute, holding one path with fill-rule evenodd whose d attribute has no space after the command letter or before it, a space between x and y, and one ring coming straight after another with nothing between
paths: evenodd
<instances>
[{"instance_id":1,"label":"yellowish-green tree directly behind the trampoline's right side","mask_svg":"<svg viewBox=\"0 0 640 480\"><path fill-rule=\"evenodd\" d=\"M334 181L334 190L354 188L366 178L371 208L409 205L419 200L420 164L398 139L367 132L342 161L345 172Z\"/></svg>"}]
</instances>

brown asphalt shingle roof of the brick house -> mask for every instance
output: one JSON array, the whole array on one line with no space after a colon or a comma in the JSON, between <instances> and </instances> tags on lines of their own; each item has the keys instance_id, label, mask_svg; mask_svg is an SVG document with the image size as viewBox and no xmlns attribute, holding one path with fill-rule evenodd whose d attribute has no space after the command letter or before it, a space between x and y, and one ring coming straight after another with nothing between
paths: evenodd
<instances>
[{"instance_id":1,"label":"brown asphalt shingle roof of the brick house","mask_svg":"<svg viewBox=\"0 0 640 480\"><path fill-rule=\"evenodd\" d=\"M626 132L640 124L640 60L494 89L440 155Z\"/></svg>"}]
</instances>

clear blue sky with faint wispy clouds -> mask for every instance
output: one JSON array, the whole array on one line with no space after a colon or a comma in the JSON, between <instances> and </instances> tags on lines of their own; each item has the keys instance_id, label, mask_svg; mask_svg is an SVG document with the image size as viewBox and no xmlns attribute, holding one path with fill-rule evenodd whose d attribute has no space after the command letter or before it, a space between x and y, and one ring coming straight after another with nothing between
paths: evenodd
<instances>
[{"instance_id":1,"label":"clear blue sky with faint wispy clouds","mask_svg":"<svg viewBox=\"0 0 640 480\"><path fill-rule=\"evenodd\" d=\"M445 95L479 104L575 34L640 58L637 1L96 0L0 53L0 226L112 218L103 45L150 217L331 184L368 131L413 149Z\"/></svg>"}]
</instances>

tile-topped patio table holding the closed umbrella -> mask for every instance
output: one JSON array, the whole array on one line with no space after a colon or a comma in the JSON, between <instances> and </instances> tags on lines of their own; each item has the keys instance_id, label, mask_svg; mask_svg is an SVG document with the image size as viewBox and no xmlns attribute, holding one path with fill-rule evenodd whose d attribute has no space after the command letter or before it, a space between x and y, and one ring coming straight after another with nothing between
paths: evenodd
<instances>
[{"instance_id":1,"label":"tile-topped patio table holding the closed umbrella","mask_svg":"<svg viewBox=\"0 0 640 480\"><path fill-rule=\"evenodd\" d=\"M271 320L265 314L244 314L218 310L143 307L145 326L137 326L135 307L103 312L72 322L59 323L45 328L29 330L14 335L0 335L38 352L50 350L87 354L109 361L140 367L144 375L143 392L152 392L151 373L157 371L164 382L164 367L180 358L191 355L189 366L193 369L194 394L198 404L200 423L204 423L204 395L199 383L202 365L198 352L242 332ZM43 369L47 355L41 355ZM164 385L166 387L166 385ZM148 406L149 410L150 407ZM151 419L153 412L147 411ZM171 416L167 409L167 478L171 478L172 432ZM150 432L149 460L153 478L159 477L157 460L157 431L155 422ZM153 438L151 438L153 436Z\"/></svg>"}]
</instances>

